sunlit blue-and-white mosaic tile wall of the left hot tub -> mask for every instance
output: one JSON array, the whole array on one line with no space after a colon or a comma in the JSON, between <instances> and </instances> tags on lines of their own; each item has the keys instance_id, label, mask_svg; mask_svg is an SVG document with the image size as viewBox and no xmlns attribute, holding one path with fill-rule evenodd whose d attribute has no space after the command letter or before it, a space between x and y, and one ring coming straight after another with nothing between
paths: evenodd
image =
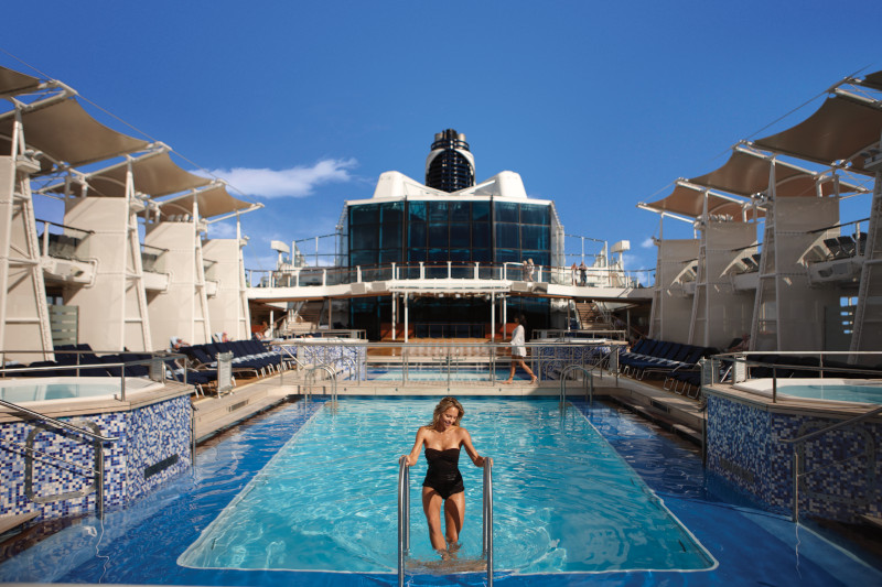
<instances>
[{"instance_id":1,"label":"sunlit blue-and-white mosaic tile wall of the left hot tub","mask_svg":"<svg viewBox=\"0 0 882 587\"><path fill-rule=\"evenodd\" d=\"M103 436L105 508L142 496L190 467L190 398L129 412L61 418ZM42 455L29 457L29 449ZM40 422L0 424L0 515L41 512L40 519L96 510L93 442Z\"/></svg>"}]
</instances>

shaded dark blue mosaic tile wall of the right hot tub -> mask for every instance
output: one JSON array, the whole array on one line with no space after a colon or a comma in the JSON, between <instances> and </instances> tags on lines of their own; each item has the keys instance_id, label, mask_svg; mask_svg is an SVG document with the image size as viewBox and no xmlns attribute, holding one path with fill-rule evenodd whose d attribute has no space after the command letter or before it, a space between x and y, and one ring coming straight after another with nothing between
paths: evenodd
<instances>
[{"instance_id":1,"label":"shaded dark blue mosaic tile wall of the right hot tub","mask_svg":"<svg viewBox=\"0 0 882 587\"><path fill-rule=\"evenodd\" d=\"M837 422L832 418L770 413L708 395L708 468L789 512L793 500L793 445L796 438ZM816 470L799 486L799 512L840 521L882 515L882 425L862 422L803 443L802 471ZM852 458L853 457L853 458Z\"/></svg>"}]
</instances>

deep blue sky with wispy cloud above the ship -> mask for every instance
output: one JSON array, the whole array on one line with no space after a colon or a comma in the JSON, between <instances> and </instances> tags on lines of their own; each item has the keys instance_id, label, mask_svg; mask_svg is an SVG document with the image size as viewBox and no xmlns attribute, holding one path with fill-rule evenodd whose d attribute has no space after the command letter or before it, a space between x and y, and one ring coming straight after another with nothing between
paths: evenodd
<instances>
[{"instance_id":1,"label":"deep blue sky with wispy cloud above the ship","mask_svg":"<svg viewBox=\"0 0 882 587\"><path fill-rule=\"evenodd\" d=\"M2 50L265 204L243 217L249 269L271 267L272 239L333 232L384 171L422 181L447 128L478 181L519 173L568 233L628 239L628 268L652 268L658 217L638 202L882 69L878 2L51 1L15 15ZM0 65L33 73L9 54ZM691 228L666 220L665 236Z\"/></svg>"}]
</instances>

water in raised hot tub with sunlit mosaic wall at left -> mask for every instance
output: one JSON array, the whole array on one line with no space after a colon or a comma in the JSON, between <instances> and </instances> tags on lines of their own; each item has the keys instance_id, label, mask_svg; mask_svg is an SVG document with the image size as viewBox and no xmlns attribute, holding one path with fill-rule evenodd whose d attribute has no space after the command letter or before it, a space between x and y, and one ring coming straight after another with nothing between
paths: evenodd
<instances>
[{"instance_id":1,"label":"water in raised hot tub with sunlit mosaic wall at left","mask_svg":"<svg viewBox=\"0 0 882 587\"><path fill-rule=\"evenodd\" d=\"M162 383L133 377L126 378L126 392L135 393L162 388ZM40 379L0 380L0 400L12 403L112 398L120 390L119 378L46 377Z\"/></svg>"}]
</instances>

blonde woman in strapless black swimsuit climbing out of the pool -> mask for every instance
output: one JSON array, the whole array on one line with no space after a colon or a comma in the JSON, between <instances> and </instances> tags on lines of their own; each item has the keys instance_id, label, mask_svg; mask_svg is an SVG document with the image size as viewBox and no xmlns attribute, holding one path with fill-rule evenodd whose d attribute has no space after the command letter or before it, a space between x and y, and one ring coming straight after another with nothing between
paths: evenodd
<instances>
[{"instance_id":1,"label":"blonde woman in strapless black swimsuit climbing out of the pool","mask_svg":"<svg viewBox=\"0 0 882 587\"><path fill-rule=\"evenodd\" d=\"M465 519L465 488L458 466L460 447L465 447L475 467L484 466L484 457L472 446L469 431L460 427L464 414L465 410L455 398L441 400L434 409L432 423L417 431L417 441L407 455L407 464L412 467L419 459L420 448L426 445L429 470L422 482L422 510L426 512L426 521L429 522L429 540L439 552L456 548ZM441 532L442 503L447 541Z\"/></svg>"}]
</instances>

